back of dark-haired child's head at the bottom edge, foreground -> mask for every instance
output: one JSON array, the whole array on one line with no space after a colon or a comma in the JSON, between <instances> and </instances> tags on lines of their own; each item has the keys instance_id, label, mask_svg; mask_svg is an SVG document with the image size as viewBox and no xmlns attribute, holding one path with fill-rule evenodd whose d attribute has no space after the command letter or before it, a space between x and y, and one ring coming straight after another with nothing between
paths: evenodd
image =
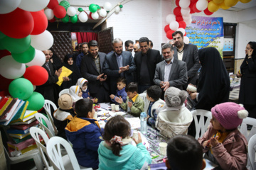
<instances>
[{"instance_id":1,"label":"back of dark-haired child's head at the bottom edge, foreground","mask_svg":"<svg viewBox=\"0 0 256 170\"><path fill-rule=\"evenodd\" d=\"M190 135L176 135L169 140L165 163L168 169L201 170L206 167L203 149Z\"/></svg>"}]
</instances>

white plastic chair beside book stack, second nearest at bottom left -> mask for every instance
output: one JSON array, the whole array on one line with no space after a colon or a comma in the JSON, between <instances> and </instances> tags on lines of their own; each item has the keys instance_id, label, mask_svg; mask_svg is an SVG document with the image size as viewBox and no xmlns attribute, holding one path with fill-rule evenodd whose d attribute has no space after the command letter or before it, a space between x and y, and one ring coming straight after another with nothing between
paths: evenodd
<instances>
[{"instance_id":1,"label":"white plastic chair beside book stack, second nearest at bottom left","mask_svg":"<svg viewBox=\"0 0 256 170\"><path fill-rule=\"evenodd\" d=\"M43 130L36 128L36 127L31 127L29 129L29 132L31 133L31 136L33 137L33 139L36 141L36 145L38 146L38 150L43 159L43 163L46 165L46 169L53 169L53 166L50 166L50 164L48 164L48 161L47 161L48 159L46 159L46 155L48 156L48 154L46 152L46 147L45 147L45 145L41 144L40 138L39 138L39 135L41 135L41 137L43 138L43 141L45 142L45 144L47 146L49 138L46 135L46 132L43 132Z\"/></svg>"}]
</instances>

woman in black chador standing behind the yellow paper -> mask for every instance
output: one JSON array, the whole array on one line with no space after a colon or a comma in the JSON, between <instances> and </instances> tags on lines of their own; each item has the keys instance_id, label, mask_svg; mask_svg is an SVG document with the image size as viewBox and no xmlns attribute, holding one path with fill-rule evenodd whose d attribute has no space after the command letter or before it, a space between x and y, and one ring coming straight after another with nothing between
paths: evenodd
<instances>
[{"instance_id":1,"label":"woman in black chador standing behind the yellow paper","mask_svg":"<svg viewBox=\"0 0 256 170\"><path fill-rule=\"evenodd\" d=\"M69 89L77 83L78 79L82 77L76 64L74 64L73 55L65 55L63 60L63 66L70 69L72 73L69 77L63 77L62 89Z\"/></svg>"}]
</instances>

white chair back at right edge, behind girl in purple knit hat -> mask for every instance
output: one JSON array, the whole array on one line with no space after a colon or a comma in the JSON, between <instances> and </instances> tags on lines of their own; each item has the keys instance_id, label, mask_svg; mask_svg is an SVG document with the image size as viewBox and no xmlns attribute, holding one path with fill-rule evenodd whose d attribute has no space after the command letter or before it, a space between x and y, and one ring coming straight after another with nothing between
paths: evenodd
<instances>
[{"instance_id":1,"label":"white chair back at right edge, behind girl in purple knit hat","mask_svg":"<svg viewBox=\"0 0 256 170\"><path fill-rule=\"evenodd\" d=\"M252 125L252 129L250 130L249 134L247 130L247 125ZM247 117L244 120L242 120L240 132L242 133L242 135L245 136L246 140L249 142L250 137L256 134L256 119Z\"/></svg>"}]
</instances>

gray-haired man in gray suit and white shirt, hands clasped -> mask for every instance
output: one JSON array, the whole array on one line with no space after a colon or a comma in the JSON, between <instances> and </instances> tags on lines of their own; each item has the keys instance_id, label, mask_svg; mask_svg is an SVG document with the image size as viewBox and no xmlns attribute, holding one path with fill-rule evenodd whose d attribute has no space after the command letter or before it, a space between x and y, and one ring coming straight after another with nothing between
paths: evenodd
<instances>
[{"instance_id":1,"label":"gray-haired man in gray suit and white shirt, hands clasped","mask_svg":"<svg viewBox=\"0 0 256 170\"><path fill-rule=\"evenodd\" d=\"M164 61L156 64L154 84L166 91L170 86L182 90L188 81L186 62L174 58L174 47L169 43L162 46Z\"/></svg>"}]
</instances>

